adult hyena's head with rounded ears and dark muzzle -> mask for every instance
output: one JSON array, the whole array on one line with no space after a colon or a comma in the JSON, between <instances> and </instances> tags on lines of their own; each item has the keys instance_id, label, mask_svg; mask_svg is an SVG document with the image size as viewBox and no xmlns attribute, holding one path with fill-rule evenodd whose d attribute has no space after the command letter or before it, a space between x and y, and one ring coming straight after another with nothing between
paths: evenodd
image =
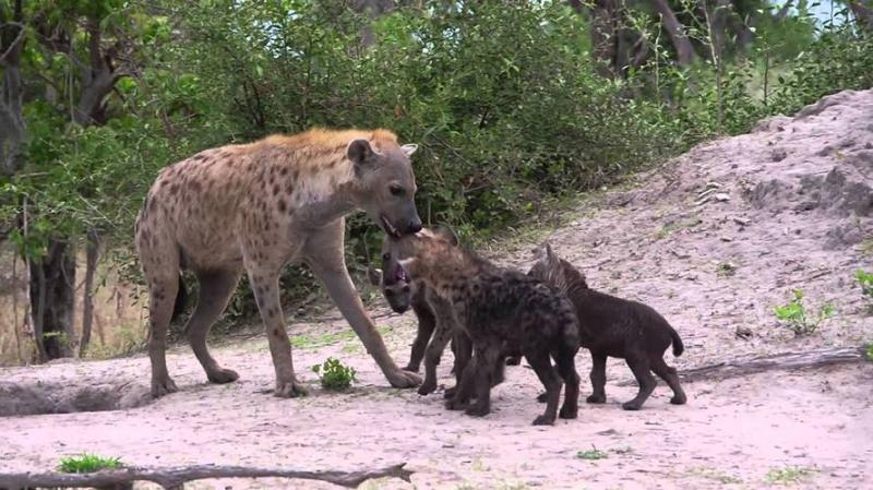
<instances>
[{"instance_id":1,"label":"adult hyena's head with rounded ears and dark muzzle","mask_svg":"<svg viewBox=\"0 0 873 490\"><path fill-rule=\"evenodd\" d=\"M349 143L347 155L355 164L355 201L393 238L421 229L416 210L416 178L409 157L417 145L381 141L374 147L368 140Z\"/></svg>"}]
</instances>

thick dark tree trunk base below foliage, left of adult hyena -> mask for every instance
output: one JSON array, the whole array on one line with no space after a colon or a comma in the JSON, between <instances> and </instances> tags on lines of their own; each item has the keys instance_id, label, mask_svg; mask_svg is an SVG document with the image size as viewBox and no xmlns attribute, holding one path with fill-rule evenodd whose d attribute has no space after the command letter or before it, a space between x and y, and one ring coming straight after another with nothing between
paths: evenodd
<instances>
[{"instance_id":1,"label":"thick dark tree trunk base below foliage, left of adult hyena","mask_svg":"<svg viewBox=\"0 0 873 490\"><path fill-rule=\"evenodd\" d=\"M50 240L40 260L31 262L34 340L41 361L73 356L75 259L68 241Z\"/></svg>"}]
</instances>

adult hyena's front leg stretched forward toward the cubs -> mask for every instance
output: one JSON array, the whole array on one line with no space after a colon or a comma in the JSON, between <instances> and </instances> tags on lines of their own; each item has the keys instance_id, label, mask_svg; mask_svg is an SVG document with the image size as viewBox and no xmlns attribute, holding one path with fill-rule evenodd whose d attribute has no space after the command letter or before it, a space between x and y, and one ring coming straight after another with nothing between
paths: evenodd
<instances>
[{"instance_id":1,"label":"adult hyena's front leg stretched forward toward the cubs","mask_svg":"<svg viewBox=\"0 0 873 490\"><path fill-rule=\"evenodd\" d=\"M306 258L312 272L321 279L327 294L343 313L346 321L358 334L367 351L382 369L382 373L394 387L415 387L421 384L421 377L414 372L403 371L394 362L385 348L382 336L375 330L363 303L355 289L355 284L346 270L343 252L344 220L336 226L323 228L307 241Z\"/></svg>"}]
</instances>

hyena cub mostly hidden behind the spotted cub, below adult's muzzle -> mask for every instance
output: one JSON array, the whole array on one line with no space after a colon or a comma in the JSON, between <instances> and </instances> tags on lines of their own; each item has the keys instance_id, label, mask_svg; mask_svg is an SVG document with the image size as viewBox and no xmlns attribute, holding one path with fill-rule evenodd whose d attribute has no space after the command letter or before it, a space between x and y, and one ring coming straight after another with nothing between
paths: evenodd
<instances>
[{"instance_id":1,"label":"hyena cub mostly hidden behind the spotted cub, below adult's muzzle","mask_svg":"<svg viewBox=\"0 0 873 490\"><path fill-rule=\"evenodd\" d=\"M457 238L450 229L442 229L443 236L447 237L454 246L457 246ZM464 372L470 357L473 356L473 344L463 328L457 327L457 321L452 310L452 304L439 295L422 280L411 280L406 271L400 266L396 256L391 253L390 237L385 237L382 243L382 268L368 268L370 283L378 286L388 306L396 313L405 313L410 307L418 320L416 338L409 356L407 371L417 372L424 360L424 382L418 387L420 395L428 395L436 390L436 367L440 364L442 354L446 344L451 340L452 354L455 361L452 372L455 373L457 383ZM506 357L506 364L514 366L521 362L521 356L511 355ZM495 367L494 384L503 381L503 366ZM446 398L453 396L454 389L445 391Z\"/></svg>"}]
</instances>

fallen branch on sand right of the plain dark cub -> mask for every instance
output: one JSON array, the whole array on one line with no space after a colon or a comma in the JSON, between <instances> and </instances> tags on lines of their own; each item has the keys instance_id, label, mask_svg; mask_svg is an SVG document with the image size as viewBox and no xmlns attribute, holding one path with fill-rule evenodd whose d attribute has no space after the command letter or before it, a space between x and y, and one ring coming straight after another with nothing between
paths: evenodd
<instances>
[{"instance_id":1,"label":"fallen branch on sand right of the plain dark cub","mask_svg":"<svg viewBox=\"0 0 873 490\"><path fill-rule=\"evenodd\" d=\"M837 349L810 350L808 352L784 352L772 356L740 358L717 364L685 369L679 372L683 381L725 379L754 374L769 370L790 370L821 368L823 366L863 362L866 355L863 347L841 347ZM634 386L634 381L623 381L620 386Z\"/></svg>"}]
</instances>

